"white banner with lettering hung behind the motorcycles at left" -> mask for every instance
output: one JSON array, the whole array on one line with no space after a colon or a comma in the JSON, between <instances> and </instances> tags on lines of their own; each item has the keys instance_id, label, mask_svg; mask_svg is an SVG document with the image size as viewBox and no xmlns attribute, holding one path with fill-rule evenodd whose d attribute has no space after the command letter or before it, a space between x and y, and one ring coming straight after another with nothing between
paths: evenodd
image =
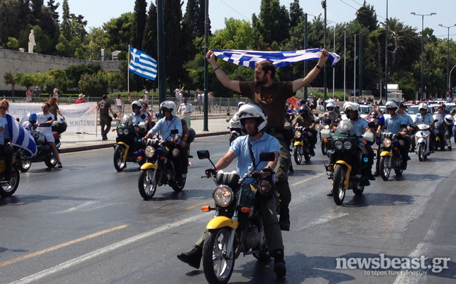
<instances>
[{"instance_id":1,"label":"white banner with lettering hung behind the motorcycles at left","mask_svg":"<svg viewBox=\"0 0 456 284\"><path fill-rule=\"evenodd\" d=\"M10 103L8 114L22 121L27 113L42 112L42 105L42 103ZM65 117L65 122L68 124L66 132L96 132L96 103L58 105L58 110L60 110Z\"/></svg>"}]
</instances>

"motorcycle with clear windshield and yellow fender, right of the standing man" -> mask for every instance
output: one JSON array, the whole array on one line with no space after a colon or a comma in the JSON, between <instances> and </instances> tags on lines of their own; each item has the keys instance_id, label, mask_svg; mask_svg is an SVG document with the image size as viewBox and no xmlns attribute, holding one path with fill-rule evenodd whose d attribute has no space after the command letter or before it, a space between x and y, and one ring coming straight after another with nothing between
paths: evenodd
<instances>
[{"instance_id":1,"label":"motorcycle with clear windshield and yellow fender, right of the standing man","mask_svg":"<svg viewBox=\"0 0 456 284\"><path fill-rule=\"evenodd\" d=\"M347 189L352 189L355 195L362 195L364 192L363 181L367 179L366 167L369 162L367 150L360 147L360 137L362 143L374 141L374 134L366 132L357 135L355 127L348 120L343 120L338 124L334 134L329 131L322 133L322 138L331 138L329 155L335 157L334 164L324 164L328 179L332 179L332 190L336 205L342 205Z\"/></svg>"}]
</instances>

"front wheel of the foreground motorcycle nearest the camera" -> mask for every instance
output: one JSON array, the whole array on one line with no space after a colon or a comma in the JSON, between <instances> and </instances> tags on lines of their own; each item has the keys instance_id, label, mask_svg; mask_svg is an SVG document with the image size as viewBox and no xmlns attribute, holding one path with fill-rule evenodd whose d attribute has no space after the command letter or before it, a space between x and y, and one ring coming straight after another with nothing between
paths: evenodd
<instances>
[{"instance_id":1,"label":"front wheel of the foreground motorcycle nearest the camera","mask_svg":"<svg viewBox=\"0 0 456 284\"><path fill-rule=\"evenodd\" d=\"M203 246L204 276L210 284L225 284L234 269L234 247L232 259L226 256L231 230L227 227L209 230Z\"/></svg>"}]
</instances>

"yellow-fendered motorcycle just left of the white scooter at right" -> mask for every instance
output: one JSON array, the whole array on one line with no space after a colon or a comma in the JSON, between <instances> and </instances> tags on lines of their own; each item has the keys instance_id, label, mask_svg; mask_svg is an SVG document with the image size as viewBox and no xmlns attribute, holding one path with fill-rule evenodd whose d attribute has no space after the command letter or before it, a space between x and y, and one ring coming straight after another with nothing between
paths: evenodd
<instances>
[{"instance_id":1,"label":"yellow-fendered motorcycle just left of the white scooter at right","mask_svg":"<svg viewBox=\"0 0 456 284\"><path fill-rule=\"evenodd\" d=\"M379 172L381 179L387 181L391 169L394 170L396 176L401 176L403 174L402 167L402 154L400 153L400 145L398 141L399 134L392 134L391 132L386 132L381 134L380 137L380 162L379 162Z\"/></svg>"}]
</instances>

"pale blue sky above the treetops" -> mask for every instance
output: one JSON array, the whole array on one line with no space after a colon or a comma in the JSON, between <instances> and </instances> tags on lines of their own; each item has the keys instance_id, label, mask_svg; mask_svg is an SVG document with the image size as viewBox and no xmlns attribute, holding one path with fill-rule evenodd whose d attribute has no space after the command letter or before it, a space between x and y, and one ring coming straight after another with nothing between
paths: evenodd
<instances>
[{"instance_id":1,"label":"pale blue sky above the treetops","mask_svg":"<svg viewBox=\"0 0 456 284\"><path fill-rule=\"evenodd\" d=\"M150 4L148 0L147 3ZM224 28L224 18L235 18L239 20L251 21L252 14L260 13L261 0L208 0L209 17L212 32ZM62 1L58 1L61 3ZM182 6L182 13L185 13L186 0ZM293 0L280 0L280 4L288 9ZM386 4L388 2L388 18L398 18L405 25L410 25L422 30L424 18L424 28L429 27L434 30L436 37L445 39L448 37L448 28L440 27L454 26L456 24L454 4L456 0L367 0L366 3L373 6L376 11L377 20L384 22L386 19ZM321 0L300 0L300 7L308 13L308 20L314 16L322 14ZM362 0L327 0L327 25L334 26L336 23L350 22L355 19L356 11L363 4ZM101 27L104 22L111 18L118 18L122 13L133 12L134 0L68 0L70 13L84 15L87 20L87 31L90 27ZM62 15L61 6L58 8L59 15ZM415 12L421 15L411 15ZM427 15L436 13L436 15ZM166 26L165 26L166 27ZM450 28L450 39L456 41L456 27Z\"/></svg>"}]
</instances>

